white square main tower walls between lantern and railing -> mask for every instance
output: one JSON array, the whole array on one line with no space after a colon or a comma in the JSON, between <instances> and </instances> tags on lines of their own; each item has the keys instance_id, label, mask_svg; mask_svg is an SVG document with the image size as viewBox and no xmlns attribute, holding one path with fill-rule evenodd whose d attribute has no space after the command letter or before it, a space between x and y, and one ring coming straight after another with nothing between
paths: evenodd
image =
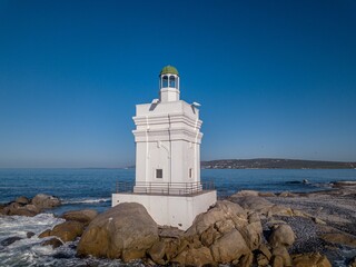
<instances>
[{"instance_id":1,"label":"white square main tower walls between lantern and railing","mask_svg":"<svg viewBox=\"0 0 356 267\"><path fill-rule=\"evenodd\" d=\"M200 182L202 122L197 108L181 100L138 105L134 120L137 182ZM162 179L156 178L156 169L164 170Z\"/></svg>"}]
</instances>

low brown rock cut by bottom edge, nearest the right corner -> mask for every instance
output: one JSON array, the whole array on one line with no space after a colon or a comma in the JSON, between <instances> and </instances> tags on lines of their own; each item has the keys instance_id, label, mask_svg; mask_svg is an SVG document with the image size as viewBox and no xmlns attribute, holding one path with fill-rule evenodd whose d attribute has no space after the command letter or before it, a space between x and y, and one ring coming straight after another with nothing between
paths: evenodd
<instances>
[{"instance_id":1,"label":"low brown rock cut by bottom edge, nearest the right corner","mask_svg":"<svg viewBox=\"0 0 356 267\"><path fill-rule=\"evenodd\" d=\"M319 253L291 255L294 267L332 267L330 261Z\"/></svg>"}]
</instances>

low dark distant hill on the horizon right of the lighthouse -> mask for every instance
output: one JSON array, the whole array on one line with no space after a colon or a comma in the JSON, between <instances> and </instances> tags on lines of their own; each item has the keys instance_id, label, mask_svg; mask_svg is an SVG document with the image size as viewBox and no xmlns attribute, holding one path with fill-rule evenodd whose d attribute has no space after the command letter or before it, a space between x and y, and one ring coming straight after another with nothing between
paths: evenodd
<instances>
[{"instance_id":1,"label":"low dark distant hill on the horizon right of the lighthouse","mask_svg":"<svg viewBox=\"0 0 356 267\"><path fill-rule=\"evenodd\" d=\"M221 159L201 161L202 169L355 169L356 162L299 159Z\"/></svg>"}]
</instances>

